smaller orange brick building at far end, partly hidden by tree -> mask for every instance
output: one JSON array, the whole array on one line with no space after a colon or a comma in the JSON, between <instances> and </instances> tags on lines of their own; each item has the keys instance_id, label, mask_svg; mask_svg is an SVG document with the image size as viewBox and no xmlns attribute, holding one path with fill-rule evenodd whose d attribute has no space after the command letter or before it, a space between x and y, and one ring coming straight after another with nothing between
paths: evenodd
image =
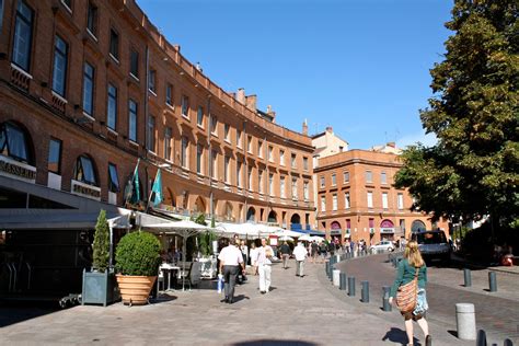
<instances>
[{"instance_id":1,"label":"smaller orange brick building at far end, partly hidden by tree","mask_svg":"<svg viewBox=\"0 0 519 346\"><path fill-rule=\"evenodd\" d=\"M319 159L314 166L318 229L326 237L354 241L399 240L418 229L439 227L411 211L412 197L393 186L402 166L394 143L373 150L349 150Z\"/></svg>"}]
</instances>

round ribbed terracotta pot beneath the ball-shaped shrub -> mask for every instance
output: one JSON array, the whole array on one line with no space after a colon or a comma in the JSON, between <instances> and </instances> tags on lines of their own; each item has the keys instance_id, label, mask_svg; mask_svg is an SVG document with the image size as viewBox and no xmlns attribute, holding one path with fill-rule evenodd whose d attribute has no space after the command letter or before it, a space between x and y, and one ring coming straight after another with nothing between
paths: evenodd
<instances>
[{"instance_id":1,"label":"round ribbed terracotta pot beneath the ball-shaped shrub","mask_svg":"<svg viewBox=\"0 0 519 346\"><path fill-rule=\"evenodd\" d=\"M125 304L143 305L153 288L157 276L130 276L117 274L120 297Z\"/></svg>"}]
</instances>

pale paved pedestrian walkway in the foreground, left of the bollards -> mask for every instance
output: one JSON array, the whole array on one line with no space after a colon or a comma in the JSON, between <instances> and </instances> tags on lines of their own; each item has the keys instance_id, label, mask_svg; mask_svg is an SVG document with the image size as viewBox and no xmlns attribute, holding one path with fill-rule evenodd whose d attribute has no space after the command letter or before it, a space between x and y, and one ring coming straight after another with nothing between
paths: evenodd
<instances>
[{"instance_id":1,"label":"pale paved pedestrian walkway in the foreground, left of the bollards","mask_svg":"<svg viewBox=\"0 0 519 346\"><path fill-rule=\"evenodd\" d=\"M330 284L322 264L273 266L273 290L260 295L257 277L237 288L237 302L224 304L209 284L171 291L157 303L107 308L74 307L25 319L0 328L1 345L400 345L406 342L395 311L383 312L347 297ZM374 298L374 297L373 297ZM15 313L0 307L0 314ZM13 315L14 316L14 315ZM23 320L23 319L22 319ZM443 326L430 325L435 345L460 342ZM422 339L419 330L415 336ZM415 345L419 345L415 341Z\"/></svg>"}]
</instances>

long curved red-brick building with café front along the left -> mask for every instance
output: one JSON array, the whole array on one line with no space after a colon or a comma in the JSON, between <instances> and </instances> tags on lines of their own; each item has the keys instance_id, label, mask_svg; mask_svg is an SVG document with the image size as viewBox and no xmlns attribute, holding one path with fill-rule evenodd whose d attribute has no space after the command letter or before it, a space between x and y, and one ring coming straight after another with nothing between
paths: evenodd
<instances>
[{"instance_id":1,"label":"long curved red-brick building with caf\u00e9 front along the left","mask_svg":"<svg viewBox=\"0 0 519 346\"><path fill-rule=\"evenodd\" d=\"M161 168L163 210L315 222L311 138L180 50L132 0L0 0L0 246L33 276L13 287L2 267L0 292L77 291L99 209L120 212L138 160L134 207Z\"/></svg>"}]
</instances>

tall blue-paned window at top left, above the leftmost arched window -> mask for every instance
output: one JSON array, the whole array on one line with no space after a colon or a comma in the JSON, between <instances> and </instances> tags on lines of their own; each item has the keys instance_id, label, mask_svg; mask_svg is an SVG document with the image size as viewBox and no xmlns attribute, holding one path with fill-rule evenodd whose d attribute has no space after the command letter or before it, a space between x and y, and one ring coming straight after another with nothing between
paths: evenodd
<instances>
[{"instance_id":1,"label":"tall blue-paned window at top left, above the leftmost arched window","mask_svg":"<svg viewBox=\"0 0 519 346\"><path fill-rule=\"evenodd\" d=\"M14 20L12 62L28 72L31 68L31 47L33 44L34 11L24 0L18 1Z\"/></svg>"}]
</instances>

